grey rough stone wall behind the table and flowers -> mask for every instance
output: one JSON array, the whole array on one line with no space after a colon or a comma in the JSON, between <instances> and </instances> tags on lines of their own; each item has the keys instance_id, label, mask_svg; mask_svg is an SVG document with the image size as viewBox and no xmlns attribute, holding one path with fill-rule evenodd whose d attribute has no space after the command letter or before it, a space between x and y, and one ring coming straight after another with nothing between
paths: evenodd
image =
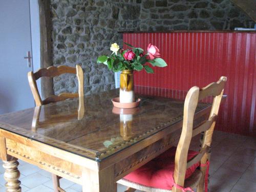
<instances>
[{"instance_id":1,"label":"grey rough stone wall behind the table and flowers","mask_svg":"<svg viewBox=\"0 0 256 192\"><path fill-rule=\"evenodd\" d=\"M96 64L110 45L122 45L118 31L232 30L254 23L229 0L51 0L53 65L84 70L86 94L114 89L114 74ZM54 78L55 94L76 92L74 75Z\"/></svg>"}]
</instances>

